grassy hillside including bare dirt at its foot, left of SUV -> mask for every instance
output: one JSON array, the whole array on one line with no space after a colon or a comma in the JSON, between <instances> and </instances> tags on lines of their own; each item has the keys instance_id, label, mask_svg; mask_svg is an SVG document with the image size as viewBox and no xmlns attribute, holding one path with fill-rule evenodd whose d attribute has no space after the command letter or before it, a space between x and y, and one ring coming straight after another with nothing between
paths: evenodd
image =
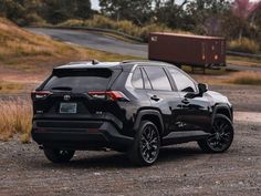
<instances>
[{"instance_id":1,"label":"grassy hillside including bare dirt at its foot, left of SUV","mask_svg":"<svg viewBox=\"0 0 261 196\"><path fill-rule=\"evenodd\" d=\"M53 66L88 59L122 61L132 56L54 41L0 18L0 94L30 92Z\"/></svg>"}]
</instances>

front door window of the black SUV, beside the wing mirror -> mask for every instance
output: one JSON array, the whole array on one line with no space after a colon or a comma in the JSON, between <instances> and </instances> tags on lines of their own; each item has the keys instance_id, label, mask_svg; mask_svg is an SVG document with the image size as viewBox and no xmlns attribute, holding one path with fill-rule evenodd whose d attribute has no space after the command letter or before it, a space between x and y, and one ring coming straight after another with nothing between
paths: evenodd
<instances>
[{"instance_id":1,"label":"front door window of the black SUV, beside the wing mirror","mask_svg":"<svg viewBox=\"0 0 261 196\"><path fill-rule=\"evenodd\" d=\"M179 72L178 70L174 69L174 68L168 68L178 91L181 92L196 92L196 85L195 82L189 79L186 74L184 74L182 72Z\"/></svg>"}]
</instances>

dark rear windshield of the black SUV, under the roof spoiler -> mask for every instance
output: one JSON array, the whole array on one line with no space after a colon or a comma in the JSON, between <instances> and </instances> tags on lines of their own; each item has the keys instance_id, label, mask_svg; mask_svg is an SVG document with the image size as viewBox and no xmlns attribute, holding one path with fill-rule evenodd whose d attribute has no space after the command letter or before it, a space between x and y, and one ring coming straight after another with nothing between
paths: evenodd
<instances>
[{"instance_id":1,"label":"dark rear windshield of the black SUV, under the roof spoiler","mask_svg":"<svg viewBox=\"0 0 261 196\"><path fill-rule=\"evenodd\" d=\"M113 72L107 69L88 70L54 70L53 76L43 90L72 91L84 93L88 91L105 91L112 79Z\"/></svg>"}]
</instances>

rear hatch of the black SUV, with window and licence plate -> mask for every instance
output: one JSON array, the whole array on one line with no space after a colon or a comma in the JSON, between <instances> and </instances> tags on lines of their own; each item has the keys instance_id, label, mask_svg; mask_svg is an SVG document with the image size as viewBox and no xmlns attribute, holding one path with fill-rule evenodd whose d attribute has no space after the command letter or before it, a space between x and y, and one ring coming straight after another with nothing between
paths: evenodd
<instances>
[{"instance_id":1,"label":"rear hatch of the black SUV, with window and licence plate","mask_svg":"<svg viewBox=\"0 0 261 196\"><path fill-rule=\"evenodd\" d=\"M108 92L121 72L121 69L104 68L54 70L41 89L32 93L34 120L104 118L108 100L105 92ZM66 123L64 125L67 126Z\"/></svg>"}]
</instances>

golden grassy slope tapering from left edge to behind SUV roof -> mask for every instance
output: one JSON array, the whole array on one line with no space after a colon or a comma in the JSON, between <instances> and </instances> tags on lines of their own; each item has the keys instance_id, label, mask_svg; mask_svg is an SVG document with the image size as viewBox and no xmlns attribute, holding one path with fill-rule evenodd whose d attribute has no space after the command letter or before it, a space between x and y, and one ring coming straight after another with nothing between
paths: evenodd
<instances>
[{"instance_id":1,"label":"golden grassy slope tapering from left edge to behind SUV roof","mask_svg":"<svg viewBox=\"0 0 261 196\"><path fill-rule=\"evenodd\" d=\"M0 68L35 71L67 61L87 59L122 60L121 56L65 44L51 38L32 34L7 19L0 18Z\"/></svg>"}]
</instances>

